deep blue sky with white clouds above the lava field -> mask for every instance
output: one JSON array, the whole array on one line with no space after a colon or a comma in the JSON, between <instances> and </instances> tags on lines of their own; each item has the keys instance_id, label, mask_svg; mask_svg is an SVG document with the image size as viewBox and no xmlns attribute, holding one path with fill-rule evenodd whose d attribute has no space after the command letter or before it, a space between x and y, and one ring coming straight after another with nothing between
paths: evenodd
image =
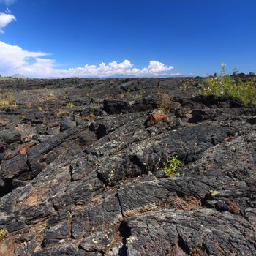
<instances>
[{"instance_id":1,"label":"deep blue sky with white clouds above the lava field","mask_svg":"<svg viewBox=\"0 0 256 256\"><path fill-rule=\"evenodd\" d=\"M0 0L0 74L256 72L255 0Z\"/></svg>"}]
</instances>

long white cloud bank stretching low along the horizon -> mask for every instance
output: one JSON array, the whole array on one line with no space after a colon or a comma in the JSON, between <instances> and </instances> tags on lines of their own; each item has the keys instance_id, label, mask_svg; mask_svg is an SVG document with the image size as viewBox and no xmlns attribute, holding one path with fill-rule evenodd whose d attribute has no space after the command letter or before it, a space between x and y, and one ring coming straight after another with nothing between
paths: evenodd
<instances>
[{"instance_id":1,"label":"long white cloud bank stretching low along the horizon","mask_svg":"<svg viewBox=\"0 0 256 256\"><path fill-rule=\"evenodd\" d=\"M0 41L0 72L2 75L19 73L37 78L177 75L177 73L170 73L173 66L167 66L159 61L149 61L147 67L138 69L127 59L119 63L112 61L108 64L102 62L98 65L86 64L83 67L59 69L59 65L54 59L45 58L47 55L47 53L23 50L19 46ZM180 74L178 73L178 75Z\"/></svg>"}]
</instances>

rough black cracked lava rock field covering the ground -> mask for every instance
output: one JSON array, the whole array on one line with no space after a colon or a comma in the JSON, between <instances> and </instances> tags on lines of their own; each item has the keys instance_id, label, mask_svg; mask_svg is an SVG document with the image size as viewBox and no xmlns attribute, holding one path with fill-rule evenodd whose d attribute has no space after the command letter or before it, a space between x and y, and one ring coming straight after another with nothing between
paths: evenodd
<instances>
[{"instance_id":1,"label":"rough black cracked lava rock field covering the ground","mask_svg":"<svg viewBox=\"0 0 256 256\"><path fill-rule=\"evenodd\" d=\"M256 108L202 79L1 81L0 255L256 255Z\"/></svg>"}]
</instances>

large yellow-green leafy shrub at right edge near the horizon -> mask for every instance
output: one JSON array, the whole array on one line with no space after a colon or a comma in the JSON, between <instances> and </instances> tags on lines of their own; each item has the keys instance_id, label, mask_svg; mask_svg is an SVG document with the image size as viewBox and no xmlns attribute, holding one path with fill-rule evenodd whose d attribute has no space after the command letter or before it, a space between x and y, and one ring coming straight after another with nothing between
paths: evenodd
<instances>
[{"instance_id":1,"label":"large yellow-green leafy shrub at right edge near the horizon","mask_svg":"<svg viewBox=\"0 0 256 256\"><path fill-rule=\"evenodd\" d=\"M232 78L227 74L225 64L222 64L220 75L206 78L205 83L200 83L200 94L230 96L240 99L246 105L256 105L256 79L253 77L242 81L240 78Z\"/></svg>"}]
</instances>

